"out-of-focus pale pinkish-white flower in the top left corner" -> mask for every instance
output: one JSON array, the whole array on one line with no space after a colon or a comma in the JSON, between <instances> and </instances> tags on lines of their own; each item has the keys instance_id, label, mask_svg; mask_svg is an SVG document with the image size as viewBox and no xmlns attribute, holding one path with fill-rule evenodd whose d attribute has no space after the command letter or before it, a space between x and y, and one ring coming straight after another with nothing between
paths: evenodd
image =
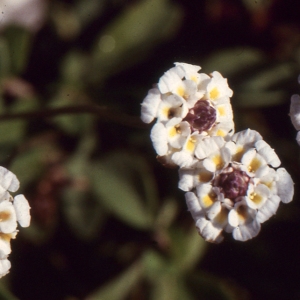
<instances>
[{"instance_id":1,"label":"out-of-focus pale pinkish-white flower in the top left corner","mask_svg":"<svg viewBox=\"0 0 300 300\"><path fill-rule=\"evenodd\" d=\"M0 0L0 8L2 11L0 28L16 24L35 32L45 21L47 1Z\"/></svg>"}]
</instances>

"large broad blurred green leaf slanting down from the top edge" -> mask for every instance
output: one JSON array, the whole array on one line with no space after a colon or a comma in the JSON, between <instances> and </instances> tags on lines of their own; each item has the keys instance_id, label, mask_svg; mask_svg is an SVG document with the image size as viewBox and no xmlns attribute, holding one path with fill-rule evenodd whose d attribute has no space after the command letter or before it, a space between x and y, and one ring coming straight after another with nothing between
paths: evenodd
<instances>
[{"instance_id":1,"label":"large broad blurred green leaf slanting down from the top edge","mask_svg":"<svg viewBox=\"0 0 300 300\"><path fill-rule=\"evenodd\" d=\"M181 10L169 0L134 2L101 33L87 76L97 82L136 63L180 24Z\"/></svg>"}]
</instances>

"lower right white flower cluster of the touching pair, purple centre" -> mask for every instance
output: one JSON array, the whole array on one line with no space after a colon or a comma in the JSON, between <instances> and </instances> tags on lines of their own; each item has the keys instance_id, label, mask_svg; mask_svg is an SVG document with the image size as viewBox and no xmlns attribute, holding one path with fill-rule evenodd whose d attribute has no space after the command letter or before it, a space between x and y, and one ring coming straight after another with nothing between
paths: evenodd
<instances>
[{"instance_id":1,"label":"lower right white flower cluster of the touching pair, purple centre","mask_svg":"<svg viewBox=\"0 0 300 300\"><path fill-rule=\"evenodd\" d=\"M205 240L221 241L222 230L232 232L237 240L253 238L260 224L276 213L280 201L292 200L290 175L283 168L274 169L280 160L257 132L245 130L228 142L211 137L198 145L197 157L202 160L180 170L179 188L193 194L186 197L187 205ZM207 172L212 175L206 182L195 179ZM197 214L193 213L196 203Z\"/></svg>"}]
</instances>

